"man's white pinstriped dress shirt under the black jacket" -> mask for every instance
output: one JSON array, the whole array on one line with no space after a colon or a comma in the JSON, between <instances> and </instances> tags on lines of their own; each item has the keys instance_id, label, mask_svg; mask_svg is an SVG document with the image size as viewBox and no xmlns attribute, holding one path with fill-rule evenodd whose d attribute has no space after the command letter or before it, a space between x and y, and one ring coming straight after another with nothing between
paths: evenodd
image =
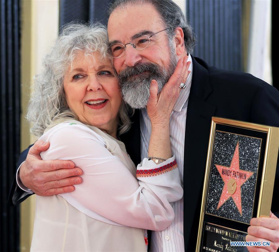
<instances>
[{"instance_id":1,"label":"man's white pinstriped dress shirt under the black jacket","mask_svg":"<svg viewBox=\"0 0 279 252\"><path fill-rule=\"evenodd\" d=\"M191 61L189 54L188 61ZM178 100L173 108L170 117L170 140L172 153L178 164L178 169L181 174L181 181L183 183L183 164L184 164L184 142L185 142L185 125L188 98L192 82L193 64L191 63L186 87L181 91ZM151 134L150 119L147 115L146 109L141 110L140 126L141 126L141 159L148 156L148 143ZM163 231L152 231L151 252L159 251L184 251L183 238L183 198L179 201L173 202L174 221Z\"/></svg>"}]
</instances>

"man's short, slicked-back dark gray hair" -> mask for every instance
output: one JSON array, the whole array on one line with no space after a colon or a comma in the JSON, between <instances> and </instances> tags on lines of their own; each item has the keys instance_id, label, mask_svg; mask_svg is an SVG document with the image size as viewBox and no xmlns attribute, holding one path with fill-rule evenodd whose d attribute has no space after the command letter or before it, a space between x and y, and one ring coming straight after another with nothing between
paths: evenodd
<instances>
[{"instance_id":1,"label":"man's short, slicked-back dark gray hair","mask_svg":"<svg viewBox=\"0 0 279 252\"><path fill-rule=\"evenodd\" d=\"M192 32L191 26L186 20L180 7L172 0L115 0L109 10L109 15L117 8L125 8L133 5L151 4L158 11L166 28L169 28L166 33L169 40L173 39L175 29L181 27L184 33L184 44L187 52L193 53L195 46L195 37ZM140 20L139 20L140 22Z\"/></svg>"}]
</instances>

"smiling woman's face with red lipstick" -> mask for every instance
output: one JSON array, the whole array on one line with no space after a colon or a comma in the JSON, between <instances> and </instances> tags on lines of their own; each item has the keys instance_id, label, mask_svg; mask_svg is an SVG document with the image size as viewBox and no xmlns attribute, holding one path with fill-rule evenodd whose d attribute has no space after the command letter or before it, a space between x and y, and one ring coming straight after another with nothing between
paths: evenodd
<instances>
[{"instance_id":1,"label":"smiling woman's face with red lipstick","mask_svg":"<svg viewBox=\"0 0 279 252\"><path fill-rule=\"evenodd\" d=\"M100 60L99 53L84 57L79 52L64 77L69 108L79 121L106 130L116 130L122 98L118 81L109 60Z\"/></svg>"}]
</instances>

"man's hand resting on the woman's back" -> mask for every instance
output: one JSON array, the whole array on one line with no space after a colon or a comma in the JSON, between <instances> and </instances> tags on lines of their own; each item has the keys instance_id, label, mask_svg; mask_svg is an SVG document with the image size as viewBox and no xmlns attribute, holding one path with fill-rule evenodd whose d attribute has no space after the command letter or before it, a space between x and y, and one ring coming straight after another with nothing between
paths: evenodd
<instances>
[{"instance_id":1,"label":"man's hand resting on the woman's back","mask_svg":"<svg viewBox=\"0 0 279 252\"><path fill-rule=\"evenodd\" d=\"M80 184L82 170L69 160L42 160L40 153L49 148L49 142L37 141L30 148L26 161L20 167L20 180L34 193L51 196L74 191Z\"/></svg>"}]
</instances>

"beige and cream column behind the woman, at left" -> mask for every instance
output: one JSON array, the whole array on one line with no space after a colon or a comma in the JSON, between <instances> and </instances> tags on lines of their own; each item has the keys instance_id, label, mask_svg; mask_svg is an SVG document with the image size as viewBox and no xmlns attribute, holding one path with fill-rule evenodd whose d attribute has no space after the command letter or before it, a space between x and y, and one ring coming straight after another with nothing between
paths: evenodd
<instances>
[{"instance_id":1,"label":"beige and cream column behind the woman, at left","mask_svg":"<svg viewBox=\"0 0 279 252\"><path fill-rule=\"evenodd\" d=\"M32 93L32 80L42 69L43 55L58 35L58 0L22 0L21 9L21 146L24 149L36 141L29 133L25 119ZM20 204L20 251L30 251L35 214L35 196Z\"/></svg>"}]
</instances>

